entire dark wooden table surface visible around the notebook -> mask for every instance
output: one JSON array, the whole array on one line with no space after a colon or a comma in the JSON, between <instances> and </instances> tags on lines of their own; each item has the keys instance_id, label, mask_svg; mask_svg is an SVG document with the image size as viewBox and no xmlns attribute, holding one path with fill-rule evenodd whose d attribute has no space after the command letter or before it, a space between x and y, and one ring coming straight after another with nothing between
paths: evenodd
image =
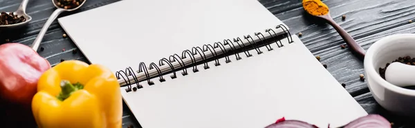
<instances>
[{"instance_id":1,"label":"entire dark wooden table surface visible around the notebook","mask_svg":"<svg viewBox=\"0 0 415 128\"><path fill-rule=\"evenodd\" d=\"M120 0L90 0L75 12L61 14L60 17L76 12L90 10ZM19 7L21 0L0 0L0 11L13 11ZM364 74L363 63L353 56L347 49L342 50L340 45L344 41L335 30L320 21L315 21L302 8L302 0L259 0L270 12L281 19L291 28L292 34L302 32L302 41L308 49L321 56L321 62L328 65L327 70L340 82L346 84L347 91L369 114L381 114L389 121L394 122L394 127L415 127L413 119L394 116L382 109L371 96L366 82L359 80L359 74ZM347 30L356 41L367 50L378 39L399 33L415 33L415 2L413 0L325 0L330 8L333 19ZM33 21L21 30L0 33L0 44L10 42L30 45L35 40L50 14L55 10L50 0L31 0L27 12L33 17ZM342 20L342 15L346 19ZM260 20L260 19L259 19ZM72 54L70 50L77 47L68 38L62 38L64 30L55 21L44 37L41 47L43 52L39 54L48 59L52 65L56 65L61 59L77 59L86 61L83 54ZM63 52L63 50L66 50ZM340 110L341 111L341 110ZM122 127L140 127L127 107L124 106Z\"/></svg>"}]
</instances>

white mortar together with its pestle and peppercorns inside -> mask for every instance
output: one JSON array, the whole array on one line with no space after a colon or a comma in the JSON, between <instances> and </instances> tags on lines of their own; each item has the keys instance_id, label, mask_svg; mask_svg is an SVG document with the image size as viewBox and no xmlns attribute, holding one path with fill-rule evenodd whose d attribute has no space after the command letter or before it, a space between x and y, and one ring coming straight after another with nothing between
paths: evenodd
<instances>
[{"instance_id":1,"label":"white mortar together with its pestle and peppercorns inside","mask_svg":"<svg viewBox=\"0 0 415 128\"><path fill-rule=\"evenodd\" d=\"M369 47L364 65L368 87L379 105L393 114L414 117L415 89L405 80L414 79L408 73L415 72L411 56L415 56L415 34L394 34Z\"/></svg>"}]
</instances>

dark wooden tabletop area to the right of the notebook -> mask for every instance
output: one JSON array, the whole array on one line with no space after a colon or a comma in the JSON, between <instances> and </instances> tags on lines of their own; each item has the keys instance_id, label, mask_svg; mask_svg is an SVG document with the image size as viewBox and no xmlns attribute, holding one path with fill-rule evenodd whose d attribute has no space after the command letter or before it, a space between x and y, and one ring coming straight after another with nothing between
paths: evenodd
<instances>
[{"instance_id":1,"label":"dark wooden tabletop area to the right of the notebook","mask_svg":"<svg viewBox=\"0 0 415 128\"><path fill-rule=\"evenodd\" d=\"M369 114L381 114L391 122L394 127L414 127L413 119L394 116L382 109L369 93L367 83L359 80L359 74L364 74L363 63L349 50L342 50L340 45L344 41L335 30L305 14L299 1L275 2L261 1L271 12L279 12L280 8L292 6L291 10L274 13L282 19L297 34L302 32L304 44L313 54L321 56L321 62L329 65L327 70L340 82L346 83L347 91L355 97ZM331 0L324 1L329 8L333 19L353 36L365 50L378 39L400 33L414 33L415 23L408 23L409 19L415 19L415 3L412 1L369 1L369 0ZM288 5L287 5L288 4ZM347 19L342 21L342 15Z\"/></svg>"}]
</instances>

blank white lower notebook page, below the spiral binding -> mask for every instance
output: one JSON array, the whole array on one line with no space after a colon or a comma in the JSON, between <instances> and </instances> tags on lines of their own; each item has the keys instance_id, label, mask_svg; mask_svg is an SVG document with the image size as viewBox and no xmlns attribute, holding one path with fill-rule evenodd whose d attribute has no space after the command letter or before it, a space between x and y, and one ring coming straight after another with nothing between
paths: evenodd
<instances>
[{"instance_id":1,"label":"blank white lower notebook page, below the spiral binding","mask_svg":"<svg viewBox=\"0 0 415 128\"><path fill-rule=\"evenodd\" d=\"M259 128L277 119L303 120L319 127L338 127L367 112L324 69L305 45L282 40L284 47L187 76L125 92L124 101L140 125L180 128Z\"/></svg>"}]
</instances>

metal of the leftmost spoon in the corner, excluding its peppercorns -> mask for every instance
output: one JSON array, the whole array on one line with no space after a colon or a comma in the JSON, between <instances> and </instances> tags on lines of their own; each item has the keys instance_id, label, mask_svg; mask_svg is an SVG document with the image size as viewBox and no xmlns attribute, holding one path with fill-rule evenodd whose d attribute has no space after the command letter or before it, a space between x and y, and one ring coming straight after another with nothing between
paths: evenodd
<instances>
[{"instance_id":1,"label":"metal of the leftmost spoon in the corner, excluding its peppercorns","mask_svg":"<svg viewBox=\"0 0 415 128\"><path fill-rule=\"evenodd\" d=\"M30 17L28 14L26 14L26 6L28 5L28 3L29 3L29 0L21 1L21 4L20 4L19 8L16 10L16 12L13 12L14 14L16 14L19 17L23 16L26 19L26 21L24 21L22 23L11 24L11 25L0 25L0 29L19 28L21 26L24 26L24 25L28 24L30 21L32 21L32 17ZM10 12L6 12L6 13L10 14Z\"/></svg>"}]
</instances>

